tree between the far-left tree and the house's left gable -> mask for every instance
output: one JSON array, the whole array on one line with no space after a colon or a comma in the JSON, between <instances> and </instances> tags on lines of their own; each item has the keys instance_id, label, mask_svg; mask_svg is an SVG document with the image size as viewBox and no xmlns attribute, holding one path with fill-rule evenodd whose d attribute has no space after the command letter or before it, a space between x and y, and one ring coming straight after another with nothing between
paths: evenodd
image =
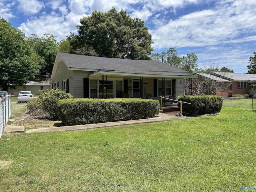
<instances>
[{"instance_id":1,"label":"tree between the far-left tree and the house's left gable","mask_svg":"<svg viewBox=\"0 0 256 192\"><path fill-rule=\"evenodd\" d=\"M27 38L27 43L40 56L40 74L44 75L40 76L40 80L44 80L46 78L45 75L49 75L52 72L56 53L59 50L59 42L56 38L53 34L44 34L41 38L32 34L31 37Z\"/></svg>"}]
</instances>

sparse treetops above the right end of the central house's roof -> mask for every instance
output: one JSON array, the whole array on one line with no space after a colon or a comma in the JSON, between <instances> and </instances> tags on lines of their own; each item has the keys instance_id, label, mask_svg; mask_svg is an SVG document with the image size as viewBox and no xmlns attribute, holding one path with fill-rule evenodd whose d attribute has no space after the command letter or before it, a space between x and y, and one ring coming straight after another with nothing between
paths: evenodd
<instances>
[{"instance_id":1,"label":"sparse treetops above the right end of the central house's roof","mask_svg":"<svg viewBox=\"0 0 256 192\"><path fill-rule=\"evenodd\" d=\"M188 71L190 74L194 73L198 68L198 58L195 53L188 53L186 56L178 56L178 52L174 48L169 48L161 54L152 53L152 60L161 61L168 65L181 68Z\"/></svg>"}]
</instances>

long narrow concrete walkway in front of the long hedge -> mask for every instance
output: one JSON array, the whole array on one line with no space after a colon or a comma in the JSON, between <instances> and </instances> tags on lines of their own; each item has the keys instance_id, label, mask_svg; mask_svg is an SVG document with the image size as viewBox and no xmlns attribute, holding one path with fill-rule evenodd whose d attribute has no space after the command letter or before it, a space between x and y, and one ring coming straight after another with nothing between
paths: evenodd
<instances>
[{"instance_id":1,"label":"long narrow concrete walkway in front of the long hedge","mask_svg":"<svg viewBox=\"0 0 256 192\"><path fill-rule=\"evenodd\" d=\"M174 116L174 115L168 115L168 114L158 114L158 117L156 118L97 123L97 124L86 124L86 125L75 125L75 126L51 127L51 128L41 128L41 129L30 129L30 130L26 130L26 133L94 129L94 128L104 128L104 127L112 127L112 126L153 123L153 122L169 121L169 120L176 120L176 119L187 119L187 117L180 117L180 116Z\"/></svg>"}]
</instances>

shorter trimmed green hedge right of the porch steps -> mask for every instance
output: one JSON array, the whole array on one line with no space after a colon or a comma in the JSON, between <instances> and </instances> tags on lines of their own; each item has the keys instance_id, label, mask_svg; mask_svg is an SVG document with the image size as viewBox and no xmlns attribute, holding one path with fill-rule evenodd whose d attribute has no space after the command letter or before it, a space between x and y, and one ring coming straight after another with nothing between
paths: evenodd
<instances>
[{"instance_id":1,"label":"shorter trimmed green hedge right of the porch steps","mask_svg":"<svg viewBox=\"0 0 256 192\"><path fill-rule=\"evenodd\" d=\"M221 110L223 99L220 96L180 96L177 100L188 102L182 103L182 115L214 114Z\"/></svg>"}]
</instances>

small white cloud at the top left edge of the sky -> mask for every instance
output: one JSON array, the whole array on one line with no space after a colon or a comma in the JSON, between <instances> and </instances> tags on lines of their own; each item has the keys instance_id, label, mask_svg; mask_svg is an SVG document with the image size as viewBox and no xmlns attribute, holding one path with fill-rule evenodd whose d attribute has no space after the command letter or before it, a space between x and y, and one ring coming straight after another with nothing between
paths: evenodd
<instances>
[{"instance_id":1,"label":"small white cloud at the top left edge of the sky","mask_svg":"<svg viewBox=\"0 0 256 192\"><path fill-rule=\"evenodd\" d=\"M25 15L37 14L42 8L44 8L44 3L37 0L18 0L18 2L18 9Z\"/></svg>"}]
</instances>

